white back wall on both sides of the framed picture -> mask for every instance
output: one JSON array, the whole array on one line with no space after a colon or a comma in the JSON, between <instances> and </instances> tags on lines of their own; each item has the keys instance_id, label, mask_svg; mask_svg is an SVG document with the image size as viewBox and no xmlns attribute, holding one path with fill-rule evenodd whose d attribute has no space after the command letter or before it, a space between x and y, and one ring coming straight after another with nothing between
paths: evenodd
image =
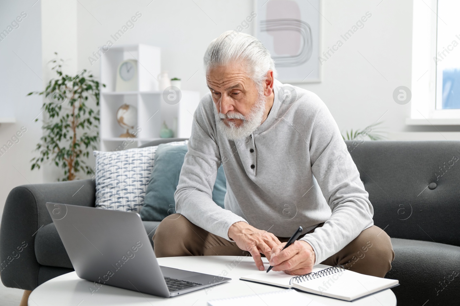
<instances>
[{"instance_id":1,"label":"white back wall on both sides of the framed picture","mask_svg":"<svg viewBox=\"0 0 460 306\"><path fill-rule=\"evenodd\" d=\"M227 1L196 0L195 4L171 0L153 1L147 6L149 2L81 0L77 5L79 68L90 68L98 75L99 62L91 66L88 57L108 39L114 42L110 34L139 11L142 17L135 27L115 44L160 46L162 69L171 77L182 78L184 89L198 89L204 95L208 89L201 62L208 43L220 33L235 29L253 11L253 1L237 0L230 5ZM411 85L412 1L379 2L323 0L325 49L341 39L340 35L367 11L372 17L323 63L322 83L296 84L318 94L342 130L364 128L385 111L380 121L388 132L406 128L404 120L410 105L398 105L392 93L398 86ZM256 21L244 32L253 33Z\"/></svg>"}]
</instances>

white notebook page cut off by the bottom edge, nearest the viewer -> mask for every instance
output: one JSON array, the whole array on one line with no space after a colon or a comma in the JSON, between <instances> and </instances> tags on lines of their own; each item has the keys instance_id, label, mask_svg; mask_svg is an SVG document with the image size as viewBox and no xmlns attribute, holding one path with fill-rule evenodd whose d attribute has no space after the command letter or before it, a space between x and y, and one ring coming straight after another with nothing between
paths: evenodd
<instances>
[{"instance_id":1,"label":"white notebook page cut off by the bottom edge, nearest the viewer","mask_svg":"<svg viewBox=\"0 0 460 306\"><path fill-rule=\"evenodd\" d=\"M229 299L210 300L208 306L325 306L308 298L307 295L292 289L281 290L259 295L246 295Z\"/></svg>"}]
</instances>

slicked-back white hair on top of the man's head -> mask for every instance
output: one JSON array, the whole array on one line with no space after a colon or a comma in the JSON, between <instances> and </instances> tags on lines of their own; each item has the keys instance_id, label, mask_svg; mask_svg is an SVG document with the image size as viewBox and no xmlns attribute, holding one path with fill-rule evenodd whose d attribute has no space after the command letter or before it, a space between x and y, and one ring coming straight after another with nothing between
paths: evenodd
<instances>
[{"instance_id":1,"label":"slicked-back white hair on top of the man's head","mask_svg":"<svg viewBox=\"0 0 460 306\"><path fill-rule=\"evenodd\" d=\"M270 52L259 39L246 33L233 30L220 34L209 44L203 57L206 73L209 68L225 66L234 61L246 62L248 77L259 92L270 69L273 70L273 77L277 76Z\"/></svg>"}]
</instances>

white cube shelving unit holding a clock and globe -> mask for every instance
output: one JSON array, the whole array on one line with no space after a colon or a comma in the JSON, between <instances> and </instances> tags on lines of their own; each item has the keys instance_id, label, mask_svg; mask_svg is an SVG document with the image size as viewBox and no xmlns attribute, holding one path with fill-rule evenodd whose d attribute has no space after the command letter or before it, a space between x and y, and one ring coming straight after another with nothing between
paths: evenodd
<instances>
[{"instance_id":1,"label":"white cube shelving unit holding a clock and globe","mask_svg":"<svg viewBox=\"0 0 460 306\"><path fill-rule=\"evenodd\" d=\"M121 61L138 61L138 91L115 92L115 80ZM160 48L149 45L124 45L111 47L101 57L100 137L102 151L136 148L160 138L163 121L173 129L173 137L190 137L193 113L200 101L198 91L181 90L182 98L175 105L163 100L163 91L158 90L156 80L160 69ZM135 139L120 138L126 132L116 120L116 111L123 104L138 109L137 127L140 128ZM131 131L132 132L132 131ZM121 147L120 147L121 146Z\"/></svg>"}]
</instances>

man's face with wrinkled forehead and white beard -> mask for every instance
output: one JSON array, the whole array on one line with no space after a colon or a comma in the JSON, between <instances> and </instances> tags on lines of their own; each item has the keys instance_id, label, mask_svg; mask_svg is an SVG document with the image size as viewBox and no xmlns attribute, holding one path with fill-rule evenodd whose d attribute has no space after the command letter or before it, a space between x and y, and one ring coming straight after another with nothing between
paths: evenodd
<instances>
[{"instance_id":1,"label":"man's face with wrinkled forehead and white beard","mask_svg":"<svg viewBox=\"0 0 460 306\"><path fill-rule=\"evenodd\" d=\"M265 95L247 77L241 63L211 68L206 76L216 114L216 126L228 139L249 136L260 125L265 112Z\"/></svg>"}]
</instances>

